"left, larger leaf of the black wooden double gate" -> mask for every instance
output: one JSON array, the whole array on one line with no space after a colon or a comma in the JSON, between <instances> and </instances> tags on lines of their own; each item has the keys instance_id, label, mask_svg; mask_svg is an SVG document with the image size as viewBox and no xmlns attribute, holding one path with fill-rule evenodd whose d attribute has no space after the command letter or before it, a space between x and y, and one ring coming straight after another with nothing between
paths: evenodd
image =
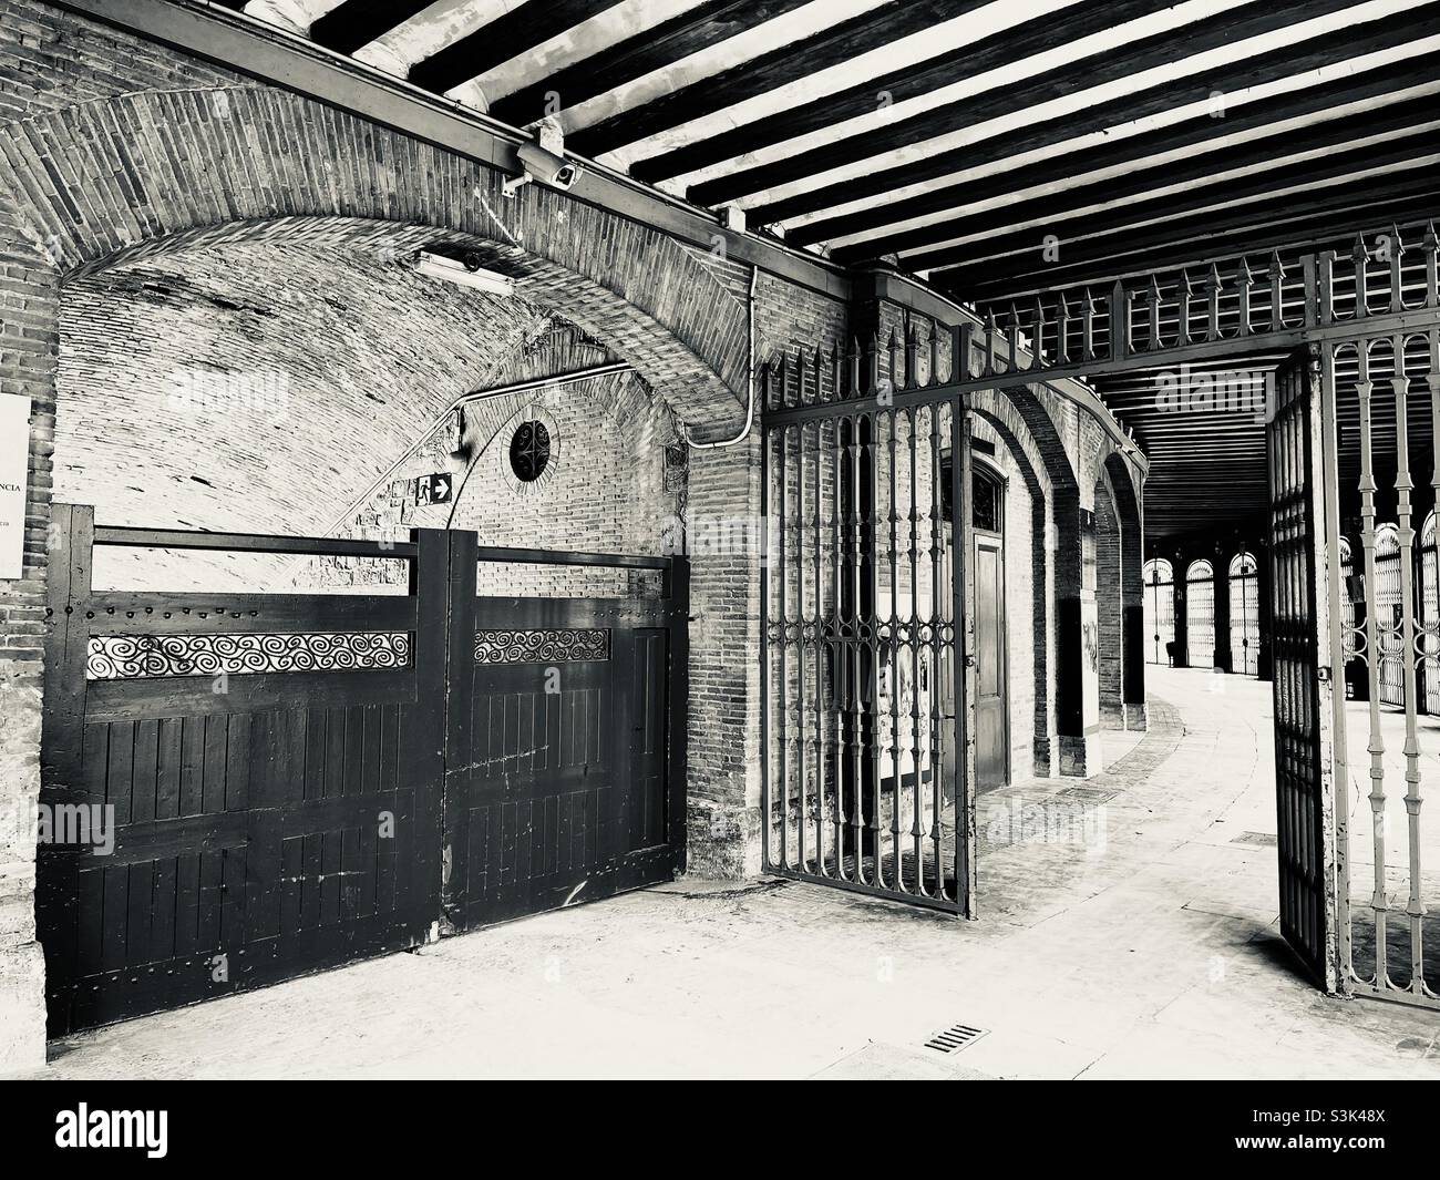
<instances>
[{"instance_id":1,"label":"left, larger leaf of the black wooden double gate","mask_svg":"<svg viewBox=\"0 0 1440 1180\"><path fill-rule=\"evenodd\" d=\"M445 683L444 628L422 625L444 620L444 539L369 547L410 560L403 596L121 592L91 588L94 543L364 549L55 520L42 823L84 807L112 847L42 840L52 1033L422 941L444 720L418 702Z\"/></svg>"}]
</instances>

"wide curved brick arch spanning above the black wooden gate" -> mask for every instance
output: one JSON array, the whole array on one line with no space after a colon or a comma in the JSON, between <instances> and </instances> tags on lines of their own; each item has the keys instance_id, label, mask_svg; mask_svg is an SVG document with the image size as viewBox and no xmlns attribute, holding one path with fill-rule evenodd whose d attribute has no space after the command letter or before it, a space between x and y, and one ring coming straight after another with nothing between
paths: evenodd
<instances>
[{"instance_id":1,"label":"wide curved brick arch spanning above the black wooden gate","mask_svg":"<svg viewBox=\"0 0 1440 1180\"><path fill-rule=\"evenodd\" d=\"M400 226L484 245L521 298L603 339L698 432L744 402L744 308L672 239L539 184L505 199L498 171L347 112L258 86L143 92L0 138L16 195L0 235L39 284L206 239Z\"/></svg>"}]
</instances>

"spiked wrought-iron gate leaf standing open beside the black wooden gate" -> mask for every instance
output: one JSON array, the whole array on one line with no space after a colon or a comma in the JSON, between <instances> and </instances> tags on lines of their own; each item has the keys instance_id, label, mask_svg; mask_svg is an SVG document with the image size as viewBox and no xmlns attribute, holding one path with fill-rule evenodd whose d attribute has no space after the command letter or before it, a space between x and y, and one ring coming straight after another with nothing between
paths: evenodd
<instances>
[{"instance_id":1,"label":"spiked wrought-iron gate leaf standing open beside the black wooden gate","mask_svg":"<svg viewBox=\"0 0 1440 1180\"><path fill-rule=\"evenodd\" d=\"M765 867L973 915L969 441L903 352L765 375Z\"/></svg>"}]
</instances>

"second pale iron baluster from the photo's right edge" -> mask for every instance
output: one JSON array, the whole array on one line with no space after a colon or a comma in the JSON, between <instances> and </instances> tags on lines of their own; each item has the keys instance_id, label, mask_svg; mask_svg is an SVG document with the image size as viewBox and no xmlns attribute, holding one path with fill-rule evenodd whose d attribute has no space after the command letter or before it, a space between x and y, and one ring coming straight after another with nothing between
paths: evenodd
<instances>
[{"instance_id":1,"label":"second pale iron baluster from the photo's right edge","mask_svg":"<svg viewBox=\"0 0 1440 1180\"><path fill-rule=\"evenodd\" d=\"M1398 254L1397 243L1392 251ZM1395 393L1395 522L1400 526L1400 650L1405 653L1405 813L1410 828L1410 898L1405 915L1410 919L1410 990L1424 994L1426 964L1423 955L1426 903L1420 892L1420 733L1417 730L1418 702L1416 700L1416 611L1414 611L1414 545L1416 532L1410 524L1410 379L1405 375L1405 337L1392 339L1395 372L1391 385Z\"/></svg>"}]
</instances>

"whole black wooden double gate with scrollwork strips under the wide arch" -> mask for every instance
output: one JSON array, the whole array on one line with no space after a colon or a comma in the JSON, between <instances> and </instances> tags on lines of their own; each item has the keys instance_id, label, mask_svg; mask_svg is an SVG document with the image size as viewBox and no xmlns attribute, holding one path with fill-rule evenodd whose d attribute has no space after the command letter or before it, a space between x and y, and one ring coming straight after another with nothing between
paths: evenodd
<instances>
[{"instance_id":1,"label":"whole black wooden double gate with scrollwork strips under the wide arch","mask_svg":"<svg viewBox=\"0 0 1440 1180\"><path fill-rule=\"evenodd\" d=\"M683 559L96 529L55 507L36 912L52 1034L667 880ZM408 594L96 591L92 546L405 562ZM660 595L478 598L477 560Z\"/></svg>"}]
</instances>

